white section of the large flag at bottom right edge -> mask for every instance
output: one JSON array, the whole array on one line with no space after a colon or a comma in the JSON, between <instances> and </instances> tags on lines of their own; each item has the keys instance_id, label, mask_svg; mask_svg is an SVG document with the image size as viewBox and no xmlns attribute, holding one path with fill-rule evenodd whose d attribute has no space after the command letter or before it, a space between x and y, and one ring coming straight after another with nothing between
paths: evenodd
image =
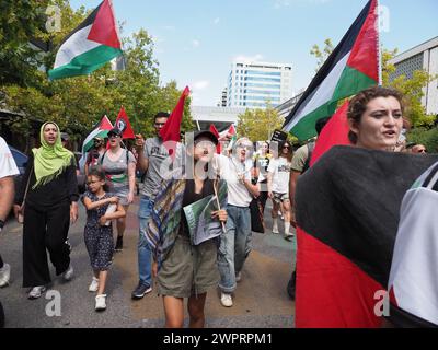
<instances>
[{"instance_id":1,"label":"white section of the large flag at bottom right edge","mask_svg":"<svg viewBox=\"0 0 438 350\"><path fill-rule=\"evenodd\" d=\"M438 163L403 198L389 281L390 320L438 327Z\"/></svg>"}]
</instances>

